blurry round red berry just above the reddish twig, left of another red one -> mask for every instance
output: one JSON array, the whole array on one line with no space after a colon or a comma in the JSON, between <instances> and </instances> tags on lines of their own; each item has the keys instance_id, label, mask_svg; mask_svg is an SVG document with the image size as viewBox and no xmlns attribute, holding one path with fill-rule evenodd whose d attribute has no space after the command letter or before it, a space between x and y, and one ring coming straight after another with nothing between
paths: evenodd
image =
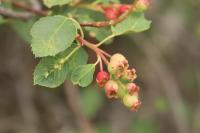
<instances>
[{"instance_id":1,"label":"blurry round red berry just above the reddish twig, left of another red one","mask_svg":"<svg viewBox=\"0 0 200 133\"><path fill-rule=\"evenodd\" d=\"M115 20L119 17L119 11L112 7L107 7L104 9L104 15L109 20Z\"/></svg>"}]
</instances>

